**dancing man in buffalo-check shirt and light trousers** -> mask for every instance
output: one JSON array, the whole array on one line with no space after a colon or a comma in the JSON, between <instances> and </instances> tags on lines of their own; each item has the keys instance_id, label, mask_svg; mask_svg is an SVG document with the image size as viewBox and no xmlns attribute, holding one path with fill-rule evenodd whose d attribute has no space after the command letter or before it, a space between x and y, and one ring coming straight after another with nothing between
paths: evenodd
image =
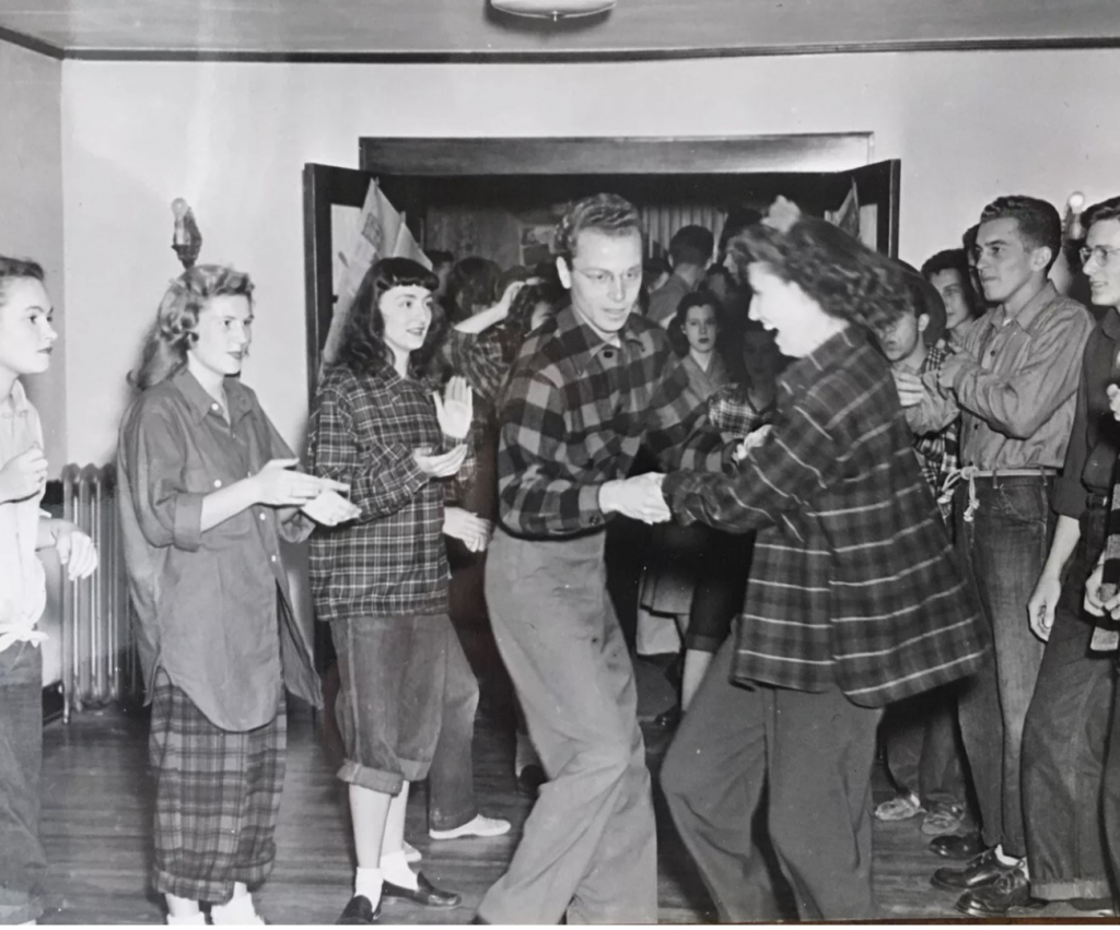
<instances>
[{"instance_id":1,"label":"dancing man in buffalo-check shirt and light trousers","mask_svg":"<svg viewBox=\"0 0 1120 930\"><path fill-rule=\"evenodd\" d=\"M498 650L549 782L476 922L655 923L656 837L634 673L607 593L606 522L670 518L640 445L718 470L664 330L635 312L634 206L600 194L557 227L571 303L525 340L500 401L500 526L486 564Z\"/></svg>"}]
</instances>

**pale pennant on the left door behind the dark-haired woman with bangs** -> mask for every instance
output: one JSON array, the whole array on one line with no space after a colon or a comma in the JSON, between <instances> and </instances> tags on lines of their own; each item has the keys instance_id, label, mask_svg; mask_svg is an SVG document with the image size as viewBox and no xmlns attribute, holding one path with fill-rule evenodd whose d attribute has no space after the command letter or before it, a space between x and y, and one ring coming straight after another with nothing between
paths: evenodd
<instances>
[{"instance_id":1,"label":"pale pennant on the left door behind the dark-haired woman with bangs","mask_svg":"<svg viewBox=\"0 0 1120 930\"><path fill-rule=\"evenodd\" d=\"M319 363L320 378L338 355L354 295L373 263L377 259L411 259L427 269L431 267L431 261L409 232L404 219L404 214L400 213L382 192L377 179L370 181L351 243L338 254L342 273L339 280L335 282L335 312L330 318L330 329L323 347L323 359Z\"/></svg>"}]
</instances>

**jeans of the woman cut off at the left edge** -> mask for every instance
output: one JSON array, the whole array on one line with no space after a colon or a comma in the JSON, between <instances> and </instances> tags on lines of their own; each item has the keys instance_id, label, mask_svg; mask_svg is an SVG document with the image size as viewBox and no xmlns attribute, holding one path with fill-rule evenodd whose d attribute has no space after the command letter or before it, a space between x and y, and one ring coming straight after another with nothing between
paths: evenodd
<instances>
[{"instance_id":1,"label":"jeans of the woman cut off at the left edge","mask_svg":"<svg viewBox=\"0 0 1120 930\"><path fill-rule=\"evenodd\" d=\"M43 913L41 769L43 656L16 642L0 652L0 923Z\"/></svg>"}]
</instances>

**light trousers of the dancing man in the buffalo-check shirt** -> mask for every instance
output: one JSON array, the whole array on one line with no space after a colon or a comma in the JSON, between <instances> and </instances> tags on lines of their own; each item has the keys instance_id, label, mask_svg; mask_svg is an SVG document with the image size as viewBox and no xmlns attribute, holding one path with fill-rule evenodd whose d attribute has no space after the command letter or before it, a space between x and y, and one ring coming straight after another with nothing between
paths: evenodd
<instances>
[{"instance_id":1,"label":"light trousers of the dancing man in the buffalo-check shirt","mask_svg":"<svg viewBox=\"0 0 1120 930\"><path fill-rule=\"evenodd\" d=\"M655 923L657 843L634 669L607 593L605 534L494 534L486 601L494 638L549 781L489 923Z\"/></svg>"}]
</instances>

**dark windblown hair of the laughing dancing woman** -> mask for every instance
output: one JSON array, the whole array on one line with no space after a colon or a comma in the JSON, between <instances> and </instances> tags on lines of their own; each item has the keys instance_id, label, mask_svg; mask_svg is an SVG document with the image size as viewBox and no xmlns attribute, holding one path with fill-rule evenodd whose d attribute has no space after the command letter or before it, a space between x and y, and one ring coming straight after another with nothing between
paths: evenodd
<instances>
[{"instance_id":1,"label":"dark windblown hair of the laughing dancing woman","mask_svg":"<svg viewBox=\"0 0 1120 930\"><path fill-rule=\"evenodd\" d=\"M729 243L740 278L760 262L801 288L825 313L877 332L909 312L900 269L838 226L802 216L787 232L756 224Z\"/></svg>"}]
</instances>

